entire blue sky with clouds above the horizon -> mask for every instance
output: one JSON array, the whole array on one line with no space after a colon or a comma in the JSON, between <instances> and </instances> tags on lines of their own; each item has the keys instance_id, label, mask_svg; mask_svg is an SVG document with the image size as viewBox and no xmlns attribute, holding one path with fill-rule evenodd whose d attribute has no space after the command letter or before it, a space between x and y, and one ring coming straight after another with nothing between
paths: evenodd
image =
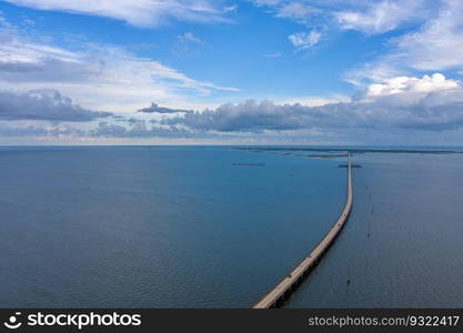
<instances>
[{"instance_id":1,"label":"entire blue sky with clouds above the horizon","mask_svg":"<svg viewBox=\"0 0 463 333\"><path fill-rule=\"evenodd\" d=\"M0 144L463 145L463 0L0 0Z\"/></svg>"}]
</instances>

